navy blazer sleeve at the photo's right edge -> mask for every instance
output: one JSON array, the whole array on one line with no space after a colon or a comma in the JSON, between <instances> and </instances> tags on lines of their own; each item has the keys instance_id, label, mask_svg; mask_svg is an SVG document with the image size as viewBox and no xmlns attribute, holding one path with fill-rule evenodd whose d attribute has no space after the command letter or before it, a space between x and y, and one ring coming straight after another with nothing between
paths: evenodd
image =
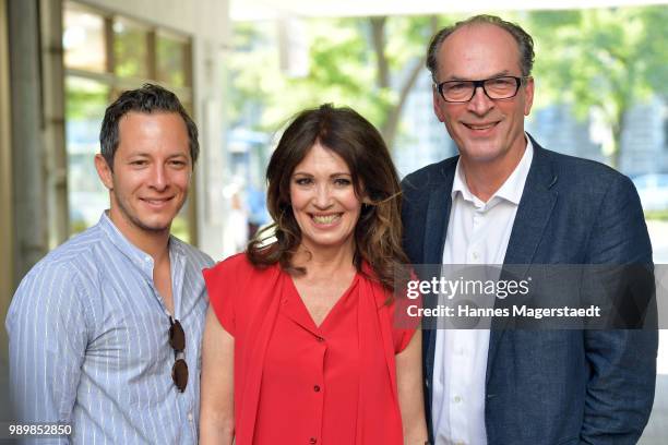
<instances>
[{"instance_id":1,"label":"navy blazer sleeve at the photo's right edge","mask_svg":"<svg viewBox=\"0 0 668 445\"><path fill-rule=\"evenodd\" d=\"M617 176L601 201L588 243L589 264L645 265L653 270L652 246L637 192ZM655 300L649 298L648 304ZM655 308L647 308L651 312ZM635 444L654 401L658 330L584 332L589 380L583 444Z\"/></svg>"}]
</instances>

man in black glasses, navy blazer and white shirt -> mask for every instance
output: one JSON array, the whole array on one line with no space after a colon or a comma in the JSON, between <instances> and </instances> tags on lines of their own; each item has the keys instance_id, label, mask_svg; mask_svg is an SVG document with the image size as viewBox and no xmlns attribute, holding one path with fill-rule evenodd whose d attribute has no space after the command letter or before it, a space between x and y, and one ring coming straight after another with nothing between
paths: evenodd
<instances>
[{"instance_id":1,"label":"man in black glasses, navy blazer and white shirt","mask_svg":"<svg viewBox=\"0 0 668 445\"><path fill-rule=\"evenodd\" d=\"M496 16L432 38L433 110L460 155L403 181L408 256L651 267L631 181L525 133L533 61L532 37ZM439 445L634 444L652 409L656 330L424 329L422 344Z\"/></svg>"}]
</instances>

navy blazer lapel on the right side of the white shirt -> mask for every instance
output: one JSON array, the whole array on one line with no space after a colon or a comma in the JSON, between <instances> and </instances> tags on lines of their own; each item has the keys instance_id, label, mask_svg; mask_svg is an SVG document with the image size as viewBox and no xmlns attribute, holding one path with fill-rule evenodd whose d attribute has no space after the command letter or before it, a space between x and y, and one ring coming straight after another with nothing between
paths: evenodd
<instances>
[{"instance_id":1,"label":"navy blazer lapel on the right side of the white shirt","mask_svg":"<svg viewBox=\"0 0 668 445\"><path fill-rule=\"evenodd\" d=\"M520 279L526 275L529 264L534 261L558 196L557 191L551 190L558 177L552 169L549 155L535 141L533 143L534 159L526 178L503 261L504 265L520 265L520 267L512 268ZM506 323L506 318L494 318L492 323L487 359L488 381L499 340L505 332Z\"/></svg>"}]
</instances>

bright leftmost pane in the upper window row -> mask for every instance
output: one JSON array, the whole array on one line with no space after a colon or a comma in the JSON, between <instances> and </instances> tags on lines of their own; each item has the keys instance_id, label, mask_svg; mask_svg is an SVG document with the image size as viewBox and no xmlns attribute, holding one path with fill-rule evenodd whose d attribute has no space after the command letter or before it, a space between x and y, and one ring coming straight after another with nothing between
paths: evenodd
<instances>
[{"instance_id":1,"label":"bright leftmost pane in the upper window row","mask_svg":"<svg viewBox=\"0 0 668 445\"><path fill-rule=\"evenodd\" d=\"M67 68L105 72L105 21L73 3L65 3L62 46Z\"/></svg>"}]
</instances>

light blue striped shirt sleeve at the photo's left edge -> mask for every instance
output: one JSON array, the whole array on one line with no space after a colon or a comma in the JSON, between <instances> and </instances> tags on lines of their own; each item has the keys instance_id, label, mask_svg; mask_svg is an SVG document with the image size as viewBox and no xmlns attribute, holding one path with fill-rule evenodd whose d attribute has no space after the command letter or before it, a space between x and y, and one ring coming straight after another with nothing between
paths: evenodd
<instances>
[{"instance_id":1,"label":"light blue striped shirt sleeve at the photo's left edge","mask_svg":"<svg viewBox=\"0 0 668 445\"><path fill-rule=\"evenodd\" d=\"M10 395L22 422L71 423L87 329L83 288L64 265L37 266L10 305Z\"/></svg>"}]
</instances>

